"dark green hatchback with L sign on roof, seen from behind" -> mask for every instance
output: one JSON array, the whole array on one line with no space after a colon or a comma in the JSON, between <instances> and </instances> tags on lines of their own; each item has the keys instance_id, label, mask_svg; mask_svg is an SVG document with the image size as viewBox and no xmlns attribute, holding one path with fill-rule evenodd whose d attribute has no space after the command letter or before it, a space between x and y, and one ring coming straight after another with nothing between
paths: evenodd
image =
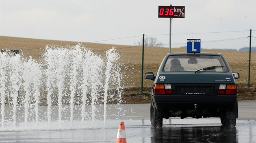
<instances>
[{"instance_id":1,"label":"dark green hatchback with L sign on roof, seen from behind","mask_svg":"<svg viewBox=\"0 0 256 143\"><path fill-rule=\"evenodd\" d=\"M226 59L219 53L168 53L154 80L150 120L163 126L163 118L219 117L223 126L235 126L238 118L237 89Z\"/></svg>"}]
</instances>

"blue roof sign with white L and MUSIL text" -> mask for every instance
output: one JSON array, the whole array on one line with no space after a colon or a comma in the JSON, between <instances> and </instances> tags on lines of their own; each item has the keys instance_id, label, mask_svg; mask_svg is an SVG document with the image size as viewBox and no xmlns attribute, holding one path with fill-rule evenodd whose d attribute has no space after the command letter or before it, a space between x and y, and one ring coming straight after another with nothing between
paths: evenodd
<instances>
[{"instance_id":1,"label":"blue roof sign with white L and MUSIL text","mask_svg":"<svg viewBox=\"0 0 256 143\"><path fill-rule=\"evenodd\" d=\"M200 53L201 39L187 39L187 53Z\"/></svg>"}]
</instances>

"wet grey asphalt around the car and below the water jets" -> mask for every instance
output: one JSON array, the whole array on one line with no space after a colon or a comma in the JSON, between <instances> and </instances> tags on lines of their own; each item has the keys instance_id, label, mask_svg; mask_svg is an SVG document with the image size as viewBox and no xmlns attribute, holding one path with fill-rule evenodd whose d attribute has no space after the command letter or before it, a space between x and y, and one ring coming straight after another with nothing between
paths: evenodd
<instances>
[{"instance_id":1,"label":"wet grey asphalt around the car and below the water jets","mask_svg":"<svg viewBox=\"0 0 256 143\"><path fill-rule=\"evenodd\" d=\"M128 143L256 143L256 100L239 101L238 105L239 118L232 128L223 128L219 118L171 118L163 120L163 128L155 129L150 125L149 104L136 104L125 105L131 112L118 120L107 120L104 127L86 122L95 127L1 131L0 142L115 143L119 122L124 121Z\"/></svg>"}]
</instances>

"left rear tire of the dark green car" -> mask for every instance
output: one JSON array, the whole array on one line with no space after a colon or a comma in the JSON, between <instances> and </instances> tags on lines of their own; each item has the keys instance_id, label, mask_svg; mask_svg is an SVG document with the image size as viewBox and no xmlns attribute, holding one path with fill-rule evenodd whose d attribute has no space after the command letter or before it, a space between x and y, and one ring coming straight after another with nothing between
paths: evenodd
<instances>
[{"instance_id":1,"label":"left rear tire of the dark green car","mask_svg":"<svg viewBox=\"0 0 256 143\"><path fill-rule=\"evenodd\" d=\"M152 104L150 105L150 122L155 128L161 128L163 126L163 114L161 110L154 109Z\"/></svg>"}]
</instances>

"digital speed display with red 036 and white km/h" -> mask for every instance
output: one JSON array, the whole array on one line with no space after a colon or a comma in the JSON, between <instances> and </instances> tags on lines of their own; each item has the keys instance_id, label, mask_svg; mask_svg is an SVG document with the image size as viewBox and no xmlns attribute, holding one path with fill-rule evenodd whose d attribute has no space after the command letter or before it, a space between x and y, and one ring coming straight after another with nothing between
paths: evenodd
<instances>
[{"instance_id":1,"label":"digital speed display with red 036 and white km/h","mask_svg":"<svg viewBox=\"0 0 256 143\"><path fill-rule=\"evenodd\" d=\"M185 6L158 6L158 17L185 18Z\"/></svg>"}]
</instances>

